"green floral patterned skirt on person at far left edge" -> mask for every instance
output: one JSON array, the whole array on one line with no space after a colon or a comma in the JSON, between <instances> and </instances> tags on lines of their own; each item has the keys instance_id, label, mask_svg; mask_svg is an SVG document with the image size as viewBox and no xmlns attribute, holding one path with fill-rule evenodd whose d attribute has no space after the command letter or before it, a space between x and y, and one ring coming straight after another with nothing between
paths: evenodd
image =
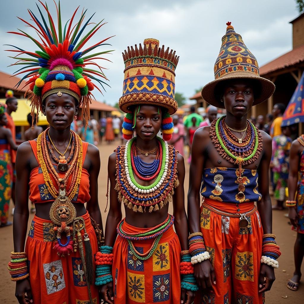
<instances>
[{"instance_id":1,"label":"green floral patterned skirt on person at far left edge","mask_svg":"<svg viewBox=\"0 0 304 304\"><path fill-rule=\"evenodd\" d=\"M9 201L12 194L12 162L9 143L0 139L0 219L6 224L9 217Z\"/></svg>"}]
</instances>

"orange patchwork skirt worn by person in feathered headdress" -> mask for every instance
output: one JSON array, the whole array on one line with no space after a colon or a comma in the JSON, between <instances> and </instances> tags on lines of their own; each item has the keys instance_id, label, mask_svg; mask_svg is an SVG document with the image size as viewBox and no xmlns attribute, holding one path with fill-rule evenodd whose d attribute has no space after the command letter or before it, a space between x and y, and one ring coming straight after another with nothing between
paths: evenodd
<instances>
[{"instance_id":1,"label":"orange patchwork skirt worn by person in feathered headdress","mask_svg":"<svg viewBox=\"0 0 304 304\"><path fill-rule=\"evenodd\" d=\"M91 242L93 254L98 251L95 230L88 212L82 216ZM26 255L29 279L35 304L90 304L87 282L79 250L59 257L53 247L56 242L54 224L34 216L28 238ZM84 234L84 230L81 230ZM66 239L62 238L64 243ZM94 304L99 304L98 289L91 285Z\"/></svg>"}]
</instances>

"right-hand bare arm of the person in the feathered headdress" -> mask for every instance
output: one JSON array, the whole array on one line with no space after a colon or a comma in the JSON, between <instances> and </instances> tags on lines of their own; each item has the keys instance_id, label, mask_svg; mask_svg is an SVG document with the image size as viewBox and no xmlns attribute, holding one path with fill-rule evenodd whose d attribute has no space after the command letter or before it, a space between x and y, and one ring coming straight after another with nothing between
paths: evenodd
<instances>
[{"instance_id":1,"label":"right-hand bare arm of the person in the feathered headdress","mask_svg":"<svg viewBox=\"0 0 304 304\"><path fill-rule=\"evenodd\" d=\"M90 174L90 200L87 202L87 210L92 217L92 219L95 220L97 224L99 224L99 229L102 230L102 237L104 235L103 233L103 227L102 227L102 218L101 213L99 209L98 204L98 175L100 171L100 155L99 150L94 145L90 144L88 145L87 154L90 157L91 165L89 168L89 174Z\"/></svg>"}]
</instances>

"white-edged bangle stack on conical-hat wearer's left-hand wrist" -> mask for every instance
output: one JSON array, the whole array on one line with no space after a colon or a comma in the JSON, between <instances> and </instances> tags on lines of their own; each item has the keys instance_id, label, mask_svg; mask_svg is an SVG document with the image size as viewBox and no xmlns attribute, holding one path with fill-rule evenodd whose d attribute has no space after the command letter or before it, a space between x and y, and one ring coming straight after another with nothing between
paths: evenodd
<instances>
[{"instance_id":1,"label":"white-edged bangle stack on conical-hat wearer's left-hand wrist","mask_svg":"<svg viewBox=\"0 0 304 304\"><path fill-rule=\"evenodd\" d=\"M206 251L204 244L203 234L201 232L195 232L190 234L189 239L189 251L192 255L191 263L194 265L204 260L210 259L209 252Z\"/></svg>"}]
</instances>

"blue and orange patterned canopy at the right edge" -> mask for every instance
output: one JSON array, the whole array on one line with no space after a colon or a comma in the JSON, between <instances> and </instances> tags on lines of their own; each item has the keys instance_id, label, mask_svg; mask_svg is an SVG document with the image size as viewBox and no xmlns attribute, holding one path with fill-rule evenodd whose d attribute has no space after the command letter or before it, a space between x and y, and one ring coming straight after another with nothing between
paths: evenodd
<instances>
[{"instance_id":1,"label":"blue and orange patterned canopy at the right edge","mask_svg":"<svg viewBox=\"0 0 304 304\"><path fill-rule=\"evenodd\" d=\"M282 127L304 122L304 72L283 115Z\"/></svg>"}]
</instances>

